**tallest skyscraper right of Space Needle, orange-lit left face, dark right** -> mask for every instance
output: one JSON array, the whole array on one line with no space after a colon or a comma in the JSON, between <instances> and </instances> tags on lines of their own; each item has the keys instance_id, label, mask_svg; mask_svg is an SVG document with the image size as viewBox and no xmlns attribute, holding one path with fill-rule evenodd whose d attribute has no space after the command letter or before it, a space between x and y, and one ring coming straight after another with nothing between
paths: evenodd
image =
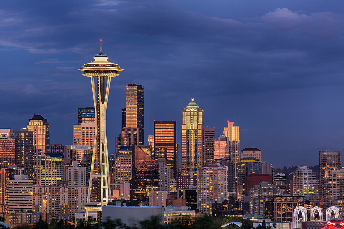
<instances>
[{"instance_id":1,"label":"tallest skyscraper right of Space Needle, orange-lit left face, dark right","mask_svg":"<svg viewBox=\"0 0 344 229\"><path fill-rule=\"evenodd\" d=\"M139 128L139 145L144 144L144 102L143 86L140 84L128 84L126 127Z\"/></svg>"}]
</instances>

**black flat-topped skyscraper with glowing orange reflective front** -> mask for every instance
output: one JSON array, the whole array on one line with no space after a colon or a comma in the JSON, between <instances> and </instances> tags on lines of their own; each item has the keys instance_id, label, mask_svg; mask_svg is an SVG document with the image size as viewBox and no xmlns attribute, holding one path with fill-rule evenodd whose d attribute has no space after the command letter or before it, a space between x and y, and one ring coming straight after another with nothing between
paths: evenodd
<instances>
[{"instance_id":1,"label":"black flat-topped skyscraper with glowing orange reflective front","mask_svg":"<svg viewBox=\"0 0 344 229\"><path fill-rule=\"evenodd\" d=\"M176 178L178 155L175 121L154 121L154 152L155 149L161 147L166 148L167 165L171 166L172 175ZM159 157L156 157L154 154L154 160L157 160Z\"/></svg>"}]
</instances>

